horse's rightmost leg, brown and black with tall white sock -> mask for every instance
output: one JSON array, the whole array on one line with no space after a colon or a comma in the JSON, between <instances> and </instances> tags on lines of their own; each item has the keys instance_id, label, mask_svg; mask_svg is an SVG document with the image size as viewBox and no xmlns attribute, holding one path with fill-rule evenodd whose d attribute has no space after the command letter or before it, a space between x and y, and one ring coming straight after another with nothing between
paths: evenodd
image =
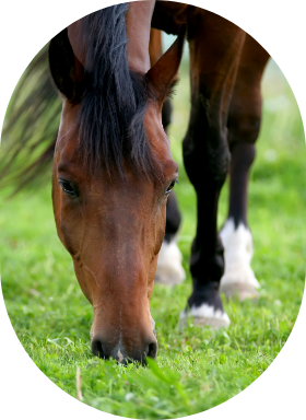
<instances>
[{"instance_id":1,"label":"horse's rightmost leg, brown and black with tall white sock","mask_svg":"<svg viewBox=\"0 0 306 420\"><path fill-rule=\"evenodd\" d=\"M226 298L237 293L240 301L256 298L260 288L250 267L254 246L247 222L247 189L261 121L260 83L269 57L267 49L247 34L228 112L229 207L220 232L225 257L220 291Z\"/></svg>"}]
</instances>

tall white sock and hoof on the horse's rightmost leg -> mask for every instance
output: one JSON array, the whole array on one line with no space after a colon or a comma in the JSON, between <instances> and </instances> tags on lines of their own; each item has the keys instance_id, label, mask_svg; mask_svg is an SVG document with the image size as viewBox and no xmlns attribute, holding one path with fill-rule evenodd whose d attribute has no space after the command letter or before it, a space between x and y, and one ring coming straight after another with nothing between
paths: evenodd
<instances>
[{"instance_id":1,"label":"tall white sock and hoof on the horse's rightmost leg","mask_svg":"<svg viewBox=\"0 0 306 420\"><path fill-rule=\"evenodd\" d=\"M257 289L260 284L250 268L254 253L250 231L244 224L239 224L235 230L234 220L229 219L225 222L220 236L225 260L220 292L225 293L226 298L237 293L240 301L258 296Z\"/></svg>"}]
</instances>

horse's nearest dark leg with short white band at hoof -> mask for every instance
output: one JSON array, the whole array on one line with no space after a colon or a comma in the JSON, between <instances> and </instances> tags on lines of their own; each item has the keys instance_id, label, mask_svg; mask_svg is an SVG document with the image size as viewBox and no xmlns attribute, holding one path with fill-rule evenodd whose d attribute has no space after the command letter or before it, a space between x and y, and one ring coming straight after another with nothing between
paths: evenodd
<instances>
[{"instance_id":1,"label":"horse's nearest dark leg with short white band at hoof","mask_svg":"<svg viewBox=\"0 0 306 420\"><path fill-rule=\"evenodd\" d=\"M198 223L190 258L193 288L180 314L180 324L191 315L195 324L228 326L220 295L224 259L216 219L229 164L228 106L245 31L203 11L188 25L188 39L191 112L183 147L186 172L197 192Z\"/></svg>"}]
</instances>

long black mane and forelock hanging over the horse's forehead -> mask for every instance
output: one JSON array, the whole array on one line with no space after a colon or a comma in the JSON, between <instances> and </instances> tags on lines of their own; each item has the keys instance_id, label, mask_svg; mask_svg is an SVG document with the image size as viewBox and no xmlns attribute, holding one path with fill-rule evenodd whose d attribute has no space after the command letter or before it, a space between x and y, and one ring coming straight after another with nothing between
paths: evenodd
<instances>
[{"instance_id":1,"label":"long black mane and forelock hanging over the horse's forehead","mask_svg":"<svg viewBox=\"0 0 306 420\"><path fill-rule=\"evenodd\" d=\"M75 127L78 145L91 174L104 167L109 175L115 168L123 176L127 161L139 175L152 179L157 176L157 161L143 117L154 96L145 75L128 67L127 10L128 3L113 4L81 20L79 40L83 39L87 51L85 91Z\"/></svg>"}]
</instances>

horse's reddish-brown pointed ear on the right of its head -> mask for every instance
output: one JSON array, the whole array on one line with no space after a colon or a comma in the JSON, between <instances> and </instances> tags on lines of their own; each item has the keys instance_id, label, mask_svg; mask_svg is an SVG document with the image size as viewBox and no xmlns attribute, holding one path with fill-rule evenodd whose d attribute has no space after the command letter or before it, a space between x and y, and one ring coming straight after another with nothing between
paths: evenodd
<instances>
[{"instance_id":1,"label":"horse's reddish-brown pointed ear on the right of its head","mask_svg":"<svg viewBox=\"0 0 306 420\"><path fill-rule=\"evenodd\" d=\"M186 25L181 25L178 37L160 60L148 71L150 89L163 103L177 80L177 73L184 51Z\"/></svg>"}]
</instances>

